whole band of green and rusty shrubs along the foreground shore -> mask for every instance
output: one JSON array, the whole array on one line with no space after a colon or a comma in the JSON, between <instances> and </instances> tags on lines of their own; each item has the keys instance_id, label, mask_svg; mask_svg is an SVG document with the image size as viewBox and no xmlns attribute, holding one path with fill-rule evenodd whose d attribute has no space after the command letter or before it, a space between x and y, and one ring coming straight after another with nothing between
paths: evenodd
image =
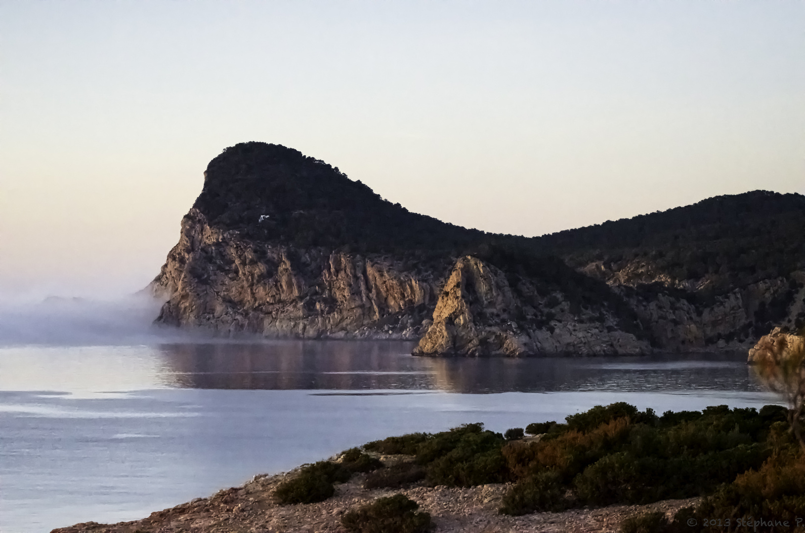
<instances>
[{"instance_id":1,"label":"whole band of green and rusty shrubs along the foreground shore","mask_svg":"<svg viewBox=\"0 0 805 533\"><path fill-rule=\"evenodd\" d=\"M562 424L529 424L526 432L542 435L539 441L523 439L519 428L504 437L483 424L464 424L369 442L364 449L413 457L384 468L361 449L349 449L339 462L304 466L275 495L283 503L320 502L334 494L334 482L361 472L368 473L367 489L402 488L423 479L445 486L512 481L500 508L508 515L706 496L695 510L685 510L686 520L805 516L805 457L789 429L786 409L774 405L658 416L621 402L567 416ZM635 517L624 527L670 533L679 526L676 519L663 520ZM687 522L685 527L693 531Z\"/></svg>"}]
</instances>

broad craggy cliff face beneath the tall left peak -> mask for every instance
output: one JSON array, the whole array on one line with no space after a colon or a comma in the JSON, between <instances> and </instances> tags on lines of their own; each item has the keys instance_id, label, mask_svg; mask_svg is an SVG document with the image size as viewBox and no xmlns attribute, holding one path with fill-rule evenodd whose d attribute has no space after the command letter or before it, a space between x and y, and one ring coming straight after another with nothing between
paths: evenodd
<instances>
[{"instance_id":1,"label":"broad craggy cliff face beneath the tall left peak","mask_svg":"<svg viewBox=\"0 0 805 533\"><path fill-rule=\"evenodd\" d=\"M157 322L266 337L419 338L440 280L384 256L245 240L192 209L151 291Z\"/></svg>"}]
</instances>

